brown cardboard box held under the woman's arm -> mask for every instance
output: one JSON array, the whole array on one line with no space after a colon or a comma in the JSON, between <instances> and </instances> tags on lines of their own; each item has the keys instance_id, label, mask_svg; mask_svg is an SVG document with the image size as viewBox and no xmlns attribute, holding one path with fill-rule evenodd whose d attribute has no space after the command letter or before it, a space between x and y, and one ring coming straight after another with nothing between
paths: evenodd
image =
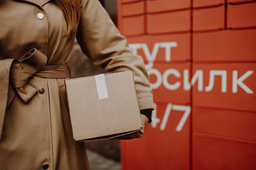
<instances>
[{"instance_id":1,"label":"brown cardboard box held under the woman's arm","mask_svg":"<svg viewBox=\"0 0 256 170\"><path fill-rule=\"evenodd\" d=\"M132 71L65 80L75 141L111 139L142 129Z\"/></svg>"}]
</instances>

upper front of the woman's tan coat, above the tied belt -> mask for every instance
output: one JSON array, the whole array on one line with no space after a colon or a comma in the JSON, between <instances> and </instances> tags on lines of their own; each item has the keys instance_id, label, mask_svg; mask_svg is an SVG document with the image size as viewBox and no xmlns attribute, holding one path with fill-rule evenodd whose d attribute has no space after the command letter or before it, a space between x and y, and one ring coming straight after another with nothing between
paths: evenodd
<instances>
[{"instance_id":1,"label":"upper front of the woman's tan coat, above the tied belt","mask_svg":"<svg viewBox=\"0 0 256 170\"><path fill-rule=\"evenodd\" d=\"M47 56L47 65L69 60L74 39L67 38L65 18L52 1L4 0L0 23L0 59L19 59L36 48Z\"/></svg>"}]
</instances>

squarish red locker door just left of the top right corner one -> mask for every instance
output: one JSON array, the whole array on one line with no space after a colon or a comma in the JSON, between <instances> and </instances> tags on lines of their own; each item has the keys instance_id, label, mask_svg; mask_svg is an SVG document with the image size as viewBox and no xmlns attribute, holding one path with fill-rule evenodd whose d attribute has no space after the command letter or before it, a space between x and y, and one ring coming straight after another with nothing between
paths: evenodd
<instances>
[{"instance_id":1,"label":"squarish red locker door just left of the top right corner one","mask_svg":"<svg viewBox=\"0 0 256 170\"><path fill-rule=\"evenodd\" d=\"M211 30L225 27L225 7L193 10L193 30Z\"/></svg>"}]
</instances>

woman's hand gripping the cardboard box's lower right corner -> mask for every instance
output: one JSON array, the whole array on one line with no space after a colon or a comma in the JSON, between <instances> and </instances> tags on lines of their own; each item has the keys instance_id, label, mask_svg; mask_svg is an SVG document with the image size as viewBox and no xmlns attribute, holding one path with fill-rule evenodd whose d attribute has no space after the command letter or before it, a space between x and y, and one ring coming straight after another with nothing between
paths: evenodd
<instances>
[{"instance_id":1,"label":"woman's hand gripping the cardboard box's lower right corner","mask_svg":"<svg viewBox=\"0 0 256 170\"><path fill-rule=\"evenodd\" d=\"M144 131L147 127L147 124L148 124L148 118L145 116L145 115L142 115L141 114L141 121L142 121L142 124L143 124L143 129L141 129L141 131L139 132L134 132L132 134L127 134L127 135L124 135L124 136L118 136L117 138L113 138L113 139L133 139L133 138L141 138L144 134Z\"/></svg>"}]
</instances>

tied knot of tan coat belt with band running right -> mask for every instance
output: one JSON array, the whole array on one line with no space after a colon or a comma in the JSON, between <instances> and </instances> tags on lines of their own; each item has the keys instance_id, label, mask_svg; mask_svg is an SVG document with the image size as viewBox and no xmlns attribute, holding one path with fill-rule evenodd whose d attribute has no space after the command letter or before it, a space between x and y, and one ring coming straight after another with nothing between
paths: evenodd
<instances>
[{"instance_id":1,"label":"tied knot of tan coat belt with band running right","mask_svg":"<svg viewBox=\"0 0 256 170\"><path fill-rule=\"evenodd\" d=\"M45 66L47 56L36 48L32 48L19 60L15 60L10 70L10 80L17 95L24 103L28 103L37 93L35 87L29 84L33 76L41 78L69 78L67 64ZM14 97L14 96L13 96Z\"/></svg>"}]
</instances>

